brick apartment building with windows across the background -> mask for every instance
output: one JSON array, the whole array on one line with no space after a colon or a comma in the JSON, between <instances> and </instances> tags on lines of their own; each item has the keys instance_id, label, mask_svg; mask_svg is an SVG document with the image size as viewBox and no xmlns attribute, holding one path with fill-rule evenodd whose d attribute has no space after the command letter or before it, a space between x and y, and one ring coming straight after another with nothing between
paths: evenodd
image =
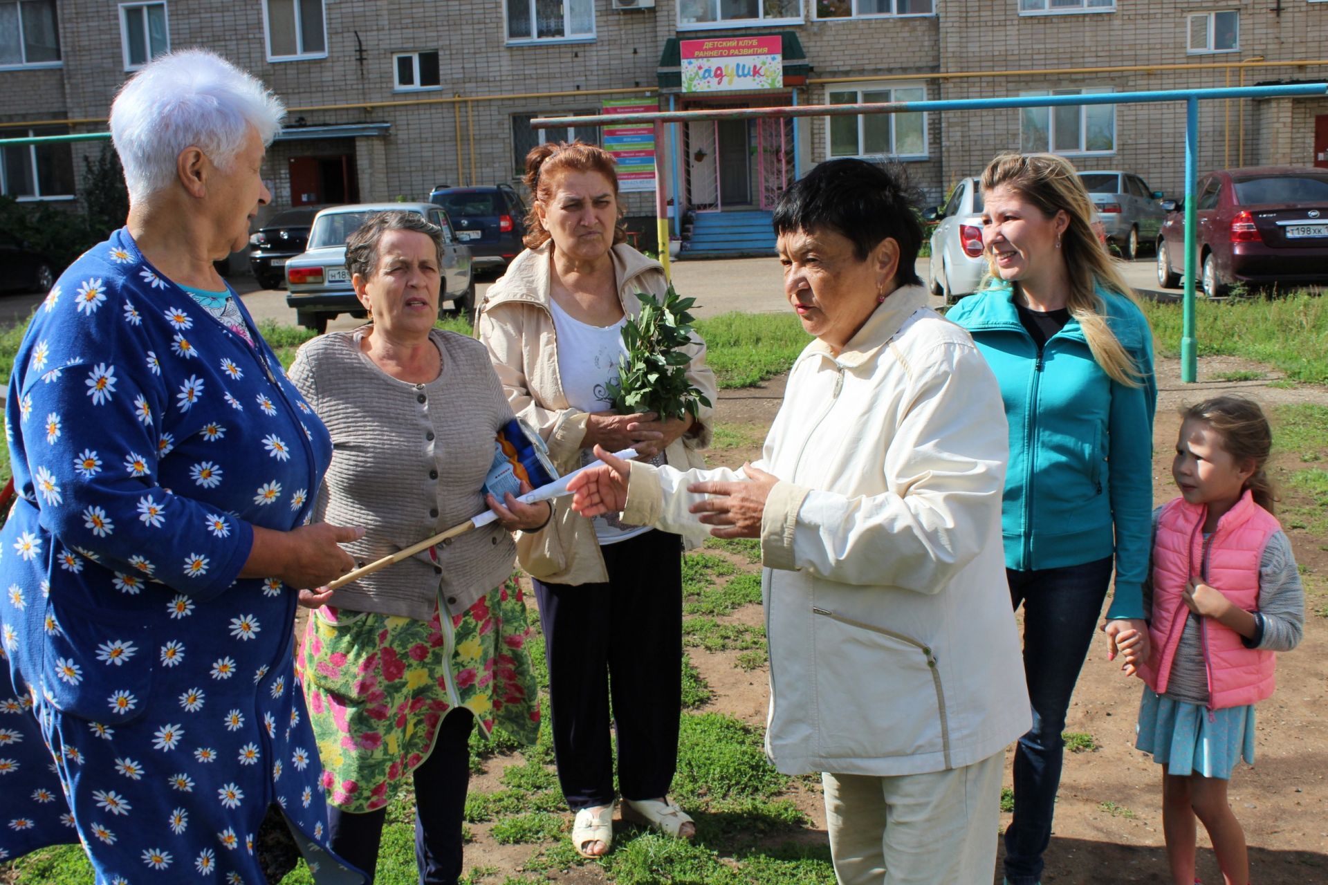
<instances>
[{"instance_id":1,"label":"brick apartment building with windows across the background","mask_svg":"<svg viewBox=\"0 0 1328 885\"><path fill-rule=\"evenodd\" d=\"M689 41L776 38L782 85L685 92ZM422 199L513 182L537 115L1328 78L1328 0L0 0L0 134L105 130L153 54L208 46L291 109L266 176L276 206ZM770 45L770 40L762 41ZM692 122L655 145L684 210L764 208L799 171L895 157L939 200L997 151L1056 150L1182 187L1181 103ZM628 139L631 141L631 139ZM649 139L645 139L649 141ZM645 146L648 147L648 145ZM96 143L0 150L0 191L69 200ZM1328 166L1328 98L1204 102L1201 171ZM640 182L639 182L640 184ZM644 182L648 187L649 182ZM647 190L627 211L652 214Z\"/></svg>"}]
</instances>

